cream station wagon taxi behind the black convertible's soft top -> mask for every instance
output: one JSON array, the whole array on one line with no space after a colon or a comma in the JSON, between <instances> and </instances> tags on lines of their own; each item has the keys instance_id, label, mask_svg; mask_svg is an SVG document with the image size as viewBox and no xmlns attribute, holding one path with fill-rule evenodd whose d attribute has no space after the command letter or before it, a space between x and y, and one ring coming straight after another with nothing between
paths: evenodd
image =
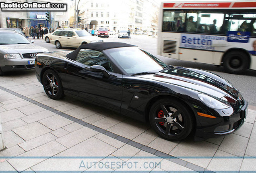
<instances>
[{"instance_id":1,"label":"cream station wagon taxi behind the black convertible's soft top","mask_svg":"<svg viewBox=\"0 0 256 173\"><path fill-rule=\"evenodd\" d=\"M103 42L103 40L92 36L85 29L63 28L54 31L50 35L50 42L55 44L56 48L62 48L62 46L79 47L81 44Z\"/></svg>"}]
</instances>

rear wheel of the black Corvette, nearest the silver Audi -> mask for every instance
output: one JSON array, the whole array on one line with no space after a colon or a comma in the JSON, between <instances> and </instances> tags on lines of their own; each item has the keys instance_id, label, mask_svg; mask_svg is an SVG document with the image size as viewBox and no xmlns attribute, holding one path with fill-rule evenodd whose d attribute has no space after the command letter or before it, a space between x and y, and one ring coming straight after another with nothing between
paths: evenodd
<instances>
[{"instance_id":1,"label":"rear wheel of the black Corvette, nearest the silver Audi","mask_svg":"<svg viewBox=\"0 0 256 173\"><path fill-rule=\"evenodd\" d=\"M64 96L60 77L53 70L46 70L43 73L43 89L48 97L57 100Z\"/></svg>"}]
</instances>

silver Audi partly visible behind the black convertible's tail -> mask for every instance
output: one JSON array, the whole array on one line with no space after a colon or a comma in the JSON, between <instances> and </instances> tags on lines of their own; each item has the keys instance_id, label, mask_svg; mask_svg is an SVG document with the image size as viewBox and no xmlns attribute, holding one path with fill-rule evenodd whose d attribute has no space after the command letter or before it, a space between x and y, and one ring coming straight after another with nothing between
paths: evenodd
<instances>
[{"instance_id":1,"label":"silver Audi partly visible behind the black convertible's tail","mask_svg":"<svg viewBox=\"0 0 256 173\"><path fill-rule=\"evenodd\" d=\"M35 56L47 51L18 32L0 30L0 76L8 71L35 68Z\"/></svg>"}]
</instances>

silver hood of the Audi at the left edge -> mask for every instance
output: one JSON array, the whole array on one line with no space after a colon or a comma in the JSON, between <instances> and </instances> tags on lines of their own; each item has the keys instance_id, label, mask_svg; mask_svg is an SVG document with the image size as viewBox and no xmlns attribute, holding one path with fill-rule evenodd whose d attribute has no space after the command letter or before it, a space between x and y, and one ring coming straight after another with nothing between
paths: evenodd
<instances>
[{"instance_id":1,"label":"silver hood of the Audi at the left edge","mask_svg":"<svg viewBox=\"0 0 256 173\"><path fill-rule=\"evenodd\" d=\"M1 45L0 49L6 53L37 53L37 52L47 52L48 49L35 44L6 44Z\"/></svg>"}]
</instances>

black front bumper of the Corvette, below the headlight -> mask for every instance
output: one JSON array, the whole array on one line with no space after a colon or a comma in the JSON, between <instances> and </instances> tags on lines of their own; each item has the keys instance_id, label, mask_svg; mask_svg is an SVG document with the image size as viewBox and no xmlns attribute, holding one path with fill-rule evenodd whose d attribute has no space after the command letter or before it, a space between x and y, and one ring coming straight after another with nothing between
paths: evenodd
<instances>
[{"instance_id":1,"label":"black front bumper of the Corvette, below the headlight","mask_svg":"<svg viewBox=\"0 0 256 173\"><path fill-rule=\"evenodd\" d=\"M221 117L212 120L207 120L207 118L204 117L198 118L202 127L196 129L196 141L211 137L225 136L237 131L244 124L244 119L248 113L248 102L244 101L244 106L230 115L223 114L223 110L217 111L219 111L219 115L221 115ZM210 123L211 125L209 125L209 121L212 121Z\"/></svg>"}]
</instances>

